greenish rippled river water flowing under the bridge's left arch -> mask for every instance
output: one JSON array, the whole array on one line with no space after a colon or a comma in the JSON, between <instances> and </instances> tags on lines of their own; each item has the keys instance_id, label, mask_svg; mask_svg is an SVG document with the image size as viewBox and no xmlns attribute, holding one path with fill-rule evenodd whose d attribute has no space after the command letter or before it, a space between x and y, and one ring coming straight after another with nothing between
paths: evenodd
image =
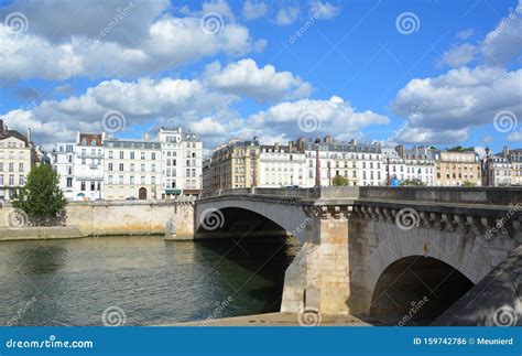
<instances>
[{"instance_id":1,"label":"greenish rippled river water flowing under the bridge's left arch","mask_svg":"<svg viewBox=\"0 0 522 356\"><path fill-rule=\"evenodd\" d=\"M297 251L279 238L2 241L0 324L159 325L274 312ZM115 310L117 321L107 316Z\"/></svg>"}]
</instances>

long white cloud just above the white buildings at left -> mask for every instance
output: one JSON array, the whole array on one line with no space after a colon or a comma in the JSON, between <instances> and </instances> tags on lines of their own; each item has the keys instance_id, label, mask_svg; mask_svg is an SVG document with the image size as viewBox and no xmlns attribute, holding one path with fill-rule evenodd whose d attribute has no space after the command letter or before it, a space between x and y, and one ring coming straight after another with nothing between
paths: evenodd
<instances>
[{"instance_id":1,"label":"long white cloud just above the white buildings at left","mask_svg":"<svg viewBox=\"0 0 522 356\"><path fill-rule=\"evenodd\" d=\"M233 96L208 91L198 80L112 79L88 88L80 96L43 101L32 110L11 110L2 119L19 130L29 126L37 142L52 143L73 139L76 129L100 131L101 118L109 110L121 111L127 128L159 122L188 127L233 100Z\"/></svg>"}]
</instances>

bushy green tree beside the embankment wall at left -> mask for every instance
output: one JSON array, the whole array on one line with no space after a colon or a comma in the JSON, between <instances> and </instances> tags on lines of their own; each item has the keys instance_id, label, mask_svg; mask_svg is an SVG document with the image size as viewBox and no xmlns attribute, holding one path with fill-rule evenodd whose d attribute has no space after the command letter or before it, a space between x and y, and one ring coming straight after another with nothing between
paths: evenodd
<instances>
[{"instance_id":1,"label":"bushy green tree beside the embankment wall at left","mask_svg":"<svg viewBox=\"0 0 522 356\"><path fill-rule=\"evenodd\" d=\"M31 225L47 226L65 217L67 201L58 185L58 175L46 164L31 169L25 186L13 206L24 211Z\"/></svg>"}]
</instances>

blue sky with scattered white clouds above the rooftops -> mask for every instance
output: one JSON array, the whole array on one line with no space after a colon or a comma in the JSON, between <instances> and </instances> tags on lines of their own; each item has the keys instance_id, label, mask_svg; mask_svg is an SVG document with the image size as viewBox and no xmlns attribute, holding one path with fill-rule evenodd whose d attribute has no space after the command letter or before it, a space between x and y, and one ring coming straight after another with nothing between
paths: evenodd
<instances>
[{"instance_id":1,"label":"blue sky with scattered white clouds above the rooftops","mask_svg":"<svg viewBox=\"0 0 522 356\"><path fill-rule=\"evenodd\" d=\"M0 0L0 118L44 147L160 127L522 147L522 0Z\"/></svg>"}]
</instances>

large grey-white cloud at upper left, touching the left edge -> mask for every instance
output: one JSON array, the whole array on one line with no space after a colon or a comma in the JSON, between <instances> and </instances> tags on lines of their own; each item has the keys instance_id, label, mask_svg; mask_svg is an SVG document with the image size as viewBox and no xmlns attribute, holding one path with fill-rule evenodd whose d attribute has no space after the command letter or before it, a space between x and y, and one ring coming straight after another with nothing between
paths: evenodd
<instances>
[{"instance_id":1,"label":"large grey-white cloud at upper left, touching the left edge","mask_svg":"<svg viewBox=\"0 0 522 356\"><path fill-rule=\"evenodd\" d=\"M165 14L134 39L140 43L134 47L124 41L112 41L110 35L97 41L85 35L87 30L73 29L72 36L56 42L34 32L13 35L0 24L0 78L142 76L220 53L239 56L262 51L267 44L264 40L252 40L246 26L233 22L221 25L220 31L208 33L198 18Z\"/></svg>"}]
</instances>

